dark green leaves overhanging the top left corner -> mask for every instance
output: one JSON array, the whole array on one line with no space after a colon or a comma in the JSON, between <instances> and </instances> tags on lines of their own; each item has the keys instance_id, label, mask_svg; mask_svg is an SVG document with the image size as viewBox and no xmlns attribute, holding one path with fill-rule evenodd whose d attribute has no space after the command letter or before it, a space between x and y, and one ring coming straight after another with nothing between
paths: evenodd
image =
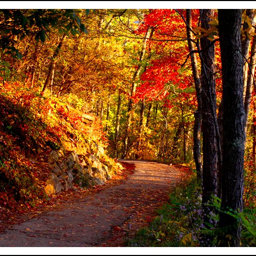
<instances>
[{"instance_id":1,"label":"dark green leaves overhanging the top left corner","mask_svg":"<svg viewBox=\"0 0 256 256\"><path fill-rule=\"evenodd\" d=\"M1 9L0 20L0 47L18 59L22 54L14 45L27 35L44 43L49 32L57 28L59 34L68 36L87 33L75 9Z\"/></svg>"}]
</instances>

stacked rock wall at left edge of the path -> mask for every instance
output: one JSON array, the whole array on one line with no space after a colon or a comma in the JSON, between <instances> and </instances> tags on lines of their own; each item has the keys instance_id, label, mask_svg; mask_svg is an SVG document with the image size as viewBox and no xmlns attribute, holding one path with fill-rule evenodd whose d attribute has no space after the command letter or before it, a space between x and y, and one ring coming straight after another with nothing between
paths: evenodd
<instances>
[{"instance_id":1,"label":"stacked rock wall at left edge of the path","mask_svg":"<svg viewBox=\"0 0 256 256\"><path fill-rule=\"evenodd\" d=\"M104 185L118 169L122 168L120 164L114 164L114 160L111 160L103 163L90 153L78 156L75 151L71 151L66 156L62 150L52 151L49 163L53 167L53 172L46 181L45 191L52 194L73 189L74 185L80 188Z\"/></svg>"}]
</instances>

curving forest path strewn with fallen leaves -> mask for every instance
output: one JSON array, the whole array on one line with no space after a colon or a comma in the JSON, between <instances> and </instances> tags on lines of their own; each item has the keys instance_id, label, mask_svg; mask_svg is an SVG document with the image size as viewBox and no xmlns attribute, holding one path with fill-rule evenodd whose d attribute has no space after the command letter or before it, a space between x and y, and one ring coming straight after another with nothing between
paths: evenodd
<instances>
[{"instance_id":1,"label":"curving forest path strewn with fallen leaves","mask_svg":"<svg viewBox=\"0 0 256 256\"><path fill-rule=\"evenodd\" d=\"M161 163L122 160L135 171L121 185L65 202L0 233L0 247L122 247L168 201L181 171Z\"/></svg>"}]
</instances>

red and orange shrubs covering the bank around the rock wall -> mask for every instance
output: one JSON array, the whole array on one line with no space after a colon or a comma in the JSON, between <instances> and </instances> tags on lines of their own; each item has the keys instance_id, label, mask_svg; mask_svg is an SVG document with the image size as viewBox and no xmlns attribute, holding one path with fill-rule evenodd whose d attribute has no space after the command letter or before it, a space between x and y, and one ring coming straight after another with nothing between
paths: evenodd
<instances>
[{"instance_id":1,"label":"red and orange shrubs covering the bank around the rock wall","mask_svg":"<svg viewBox=\"0 0 256 256\"><path fill-rule=\"evenodd\" d=\"M95 153L106 147L100 120L87 121L83 114L83 100L72 94L42 96L38 87L0 77L0 206L33 207L47 200L43 186L52 150L85 147ZM115 169L104 153L99 160Z\"/></svg>"}]
</instances>

